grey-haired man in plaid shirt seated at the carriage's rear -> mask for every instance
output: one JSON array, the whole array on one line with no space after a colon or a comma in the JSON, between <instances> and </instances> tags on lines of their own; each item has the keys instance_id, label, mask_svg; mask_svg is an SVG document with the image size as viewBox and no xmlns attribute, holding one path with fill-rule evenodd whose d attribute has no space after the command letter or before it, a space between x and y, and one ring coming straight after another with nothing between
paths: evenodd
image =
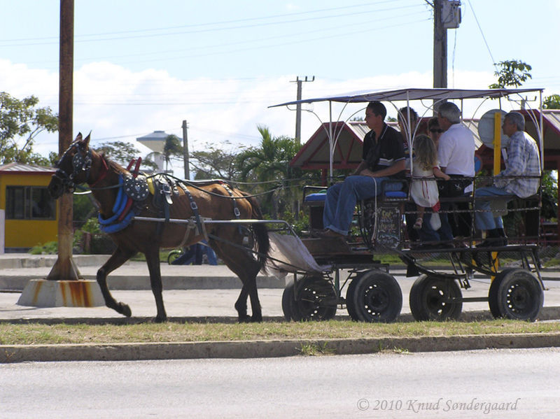
<instances>
[{"instance_id":1,"label":"grey-haired man in plaid shirt seated at the carriage's rear","mask_svg":"<svg viewBox=\"0 0 560 419\"><path fill-rule=\"evenodd\" d=\"M486 240L480 246L505 246L507 237L500 216L491 213L491 202L484 197L516 195L520 198L537 193L540 183L540 155L537 143L525 136L525 118L519 112L510 112L503 118L502 130L510 137L507 145L505 169L495 178L493 186L480 187L475 191L476 226L486 230ZM511 178L510 176L516 176Z\"/></svg>"}]
</instances>

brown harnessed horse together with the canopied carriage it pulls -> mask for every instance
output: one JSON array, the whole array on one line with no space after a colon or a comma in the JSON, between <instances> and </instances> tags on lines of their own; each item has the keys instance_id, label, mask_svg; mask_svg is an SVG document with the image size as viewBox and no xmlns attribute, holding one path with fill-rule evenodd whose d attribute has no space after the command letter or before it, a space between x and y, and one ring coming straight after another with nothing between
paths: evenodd
<instances>
[{"instance_id":1,"label":"brown harnessed horse together with the canopied carriage it pulls","mask_svg":"<svg viewBox=\"0 0 560 419\"><path fill-rule=\"evenodd\" d=\"M406 101L408 104L412 100L500 99L527 92L542 93L540 90L398 90L282 105L314 101L328 101L331 105L334 101L346 106L373 100ZM535 125L542 167L542 117L538 120L532 112L527 115ZM405 131L409 150L412 150L414 130L408 126ZM331 176L332 150L336 147L337 135L339 133L329 130ZM254 197L227 182L195 183L169 176L146 178L130 173L94 152L89 146L89 137L82 139L78 135L57 167L49 185L53 197L72 192L76 185L87 183L99 201L99 222L116 242L117 250L99 269L97 281L106 305L127 316L131 315L130 308L113 299L109 292L106 282L109 273L135 253L144 253L158 308L156 320L166 320L159 249L188 246L202 239L208 241L243 283L235 304L239 321L262 319L255 277L267 261L293 272L293 281L282 297L283 311L288 319L330 319L335 316L337 308L346 306L353 320L393 321L402 307L402 292L390 274L391 264L384 262L384 255L397 255L407 266L407 276L418 276L409 294L410 308L417 320L458 318L463 302L468 301L488 301L494 316L524 320L535 320L542 308L544 287L539 272L538 233L534 237L525 234L517 240L510 238L513 244L507 246L477 248L477 238L471 236L461 248L449 247L454 243L446 243L446 246L428 243L432 245L428 249L412 248L402 226L406 204L410 202L406 188L398 192L381 192L375 199L360 202L356 211L358 234L353 236L354 240L302 237L300 241L283 220L262 220ZM312 192L311 188L304 188L304 201L314 214L311 225L318 225L321 223L321 197L308 192ZM463 199L474 207L473 197ZM538 196L531 199L537 199L537 204L529 208L523 206L519 211L536 213L538 219L540 199ZM265 225L272 223L288 233L284 236L293 238L286 247L300 249L298 253L309 253L311 261L299 264L289 257L286 260L270 255L271 235L267 234ZM281 245L281 236L276 234L278 241L272 239L272 248ZM255 246L251 249L253 243ZM519 267L499 270L498 260L505 255L515 260ZM437 259L438 266L443 264L446 269L431 267L427 263L428 257ZM470 287L469 280L475 271L493 277L488 297L463 298L461 288ZM248 297L251 297L251 317L247 315Z\"/></svg>"}]
</instances>

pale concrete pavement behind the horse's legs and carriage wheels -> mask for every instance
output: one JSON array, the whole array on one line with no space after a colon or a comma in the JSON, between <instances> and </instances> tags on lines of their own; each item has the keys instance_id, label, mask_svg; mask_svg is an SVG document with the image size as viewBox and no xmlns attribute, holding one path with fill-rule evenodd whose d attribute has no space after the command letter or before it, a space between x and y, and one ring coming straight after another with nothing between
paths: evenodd
<instances>
[{"instance_id":1,"label":"pale concrete pavement behind the horse's legs and carriage wheels","mask_svg":"<svg viewBox=\"0 0 560 419\"><path fill-rule=\"evenodd\" d=\"M80 274L85 279L95 279L97 269L108 256L75 257ZM56 256L29 257L29 255L0 255L0 320L22 321L29 319L79 319L115 321L125 318L106 307L72 308L54 307L40 308L17 305L20 292L30 279L45 278L54 264ZM14 267L20 266L26 267ZM4 268L4 266L10 268ZM29 267L31 266L31 267ZM237 311L234 304L241 290L241 281L224 265L210 266L175 266L161 264L163 281L163 299L170 319L235 321ZM402 289L402 311L400 320L412 321L408 304L408 294L415 278L405 278L404 271L391 271ZM560 273L545 272L545 309L541 319L560 319ZM283 287L291 276L279 280L274 277L259 275L258 292L262 315L265 320L280 320L283 318L281 297ZM485 297L488 294L489 279L475 276L470 281L472 287L463 290L464 297ZM132 320L155 317L155 301L150 288L148 267L145 262L128 262L116 269L109 276L109 288L118 301L130 305ZM345 288L343 293L345 292ZM486 302L463 304L463 318L491 318ZM249 304L249 313L250 304ZM337 315L348 318L346 310L340 309Z\"/></svg>"}]
</instances>

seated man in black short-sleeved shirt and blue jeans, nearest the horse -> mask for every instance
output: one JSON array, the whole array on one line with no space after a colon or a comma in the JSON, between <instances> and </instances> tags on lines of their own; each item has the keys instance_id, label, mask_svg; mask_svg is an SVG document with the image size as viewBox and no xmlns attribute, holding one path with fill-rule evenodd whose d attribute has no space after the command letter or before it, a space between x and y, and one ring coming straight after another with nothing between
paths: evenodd
<instances>
[{"instance_id":1,"label":"seated man in black short-sleeved shirt and blue jeans, nearest the horse","mask_svg":"<svg viewBox=\"0 0 560 419\"><path fill-rule=\"evenodd\" d=\"M327 191L323 212L324 236L346 236L356 202L381 193L384 180L405 176L405 152L400 133L384 122L387 114L381 102L365 108L365 122L371 129L363 139L362 162L343 183ZM400 190L399 183L389 183L385 190Z\"/></svg>"}]
</instances>

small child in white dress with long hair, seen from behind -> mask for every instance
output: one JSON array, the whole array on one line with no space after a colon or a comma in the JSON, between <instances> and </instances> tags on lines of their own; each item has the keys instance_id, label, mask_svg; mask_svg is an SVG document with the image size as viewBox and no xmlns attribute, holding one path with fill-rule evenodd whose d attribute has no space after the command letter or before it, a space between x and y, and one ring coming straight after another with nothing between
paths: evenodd
<instances>
[{"instance_id":1,"label":"small child in white dress with long hair, seen from behind","mask_svg":"<svg viewBox=\"0 0 560 419\"><path fill-rule=\"evenodd\" d=\"M432 139L426 135L416 136L410 187L410 196L416 203L417 211L415 229L422 228L426 208L432 208L434 212L430 220L432 228L437 230L441 226L440 216L437 214L437 211L440 210L440 194L437 192L435 178L450 179L449 175L443 173L437 165L437 150Z\"/></svg>"}]
</instances>

